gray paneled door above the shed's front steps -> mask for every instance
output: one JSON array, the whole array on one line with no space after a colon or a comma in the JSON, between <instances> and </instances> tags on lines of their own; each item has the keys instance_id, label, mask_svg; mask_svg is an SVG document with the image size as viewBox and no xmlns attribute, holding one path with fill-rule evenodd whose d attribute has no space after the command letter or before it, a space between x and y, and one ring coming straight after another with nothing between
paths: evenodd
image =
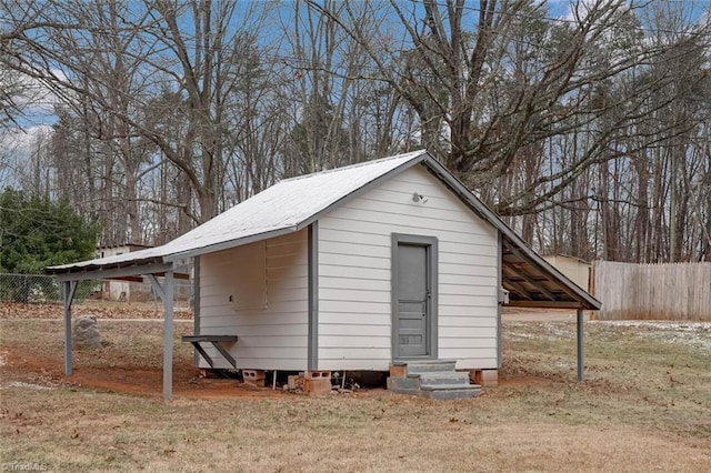
<instances>
[{"instance_id":1,"label":"gray paneled door above the shed's front steps","mask_svg":"<svg viewBox=\"0 0 711 473\"><path fill-rule=\"evenodd\" d=\"M430 246L402 242L397 245L394 356L427 356L430 354Z\"/></svg>"}]
</instances>

